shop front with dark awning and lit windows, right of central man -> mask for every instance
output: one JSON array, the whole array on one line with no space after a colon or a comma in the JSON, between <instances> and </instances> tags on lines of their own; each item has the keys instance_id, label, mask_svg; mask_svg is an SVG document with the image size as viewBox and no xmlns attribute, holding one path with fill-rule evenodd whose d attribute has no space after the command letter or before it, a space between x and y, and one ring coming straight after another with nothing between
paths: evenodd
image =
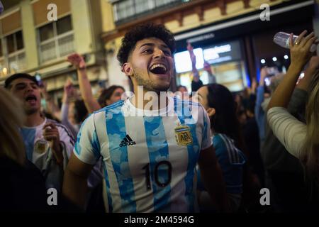
<instances>
[{"instance_id":1,"label":"shop front with dark awning and lit windows, right of central man","mask_svg":"<svg viewBox=\"0 0 319 227\"><path fill-rule=\"evenodd\" d=\"M231 92L250 87L253 78L259 79L260 67L264 65L278 65L279 72L286 70L289 50L274 44L274 34L313 30L314 8L314 1L287 1L270 8L269 21L260 19L260 10L175 34L177 86L184 85L191 92L191 60L186 50L187 43L194 47L196 68L203 84L210 82L203 70L203 62L208 62L216 82Z\"/></svg>"}]
</instances>

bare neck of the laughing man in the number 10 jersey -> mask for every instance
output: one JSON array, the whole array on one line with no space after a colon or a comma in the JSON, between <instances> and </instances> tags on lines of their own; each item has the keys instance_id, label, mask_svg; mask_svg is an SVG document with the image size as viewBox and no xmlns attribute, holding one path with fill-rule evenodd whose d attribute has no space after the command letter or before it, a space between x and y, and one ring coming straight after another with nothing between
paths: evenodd
<instances>
[{"instance_id":1,"label":"bare neck of the laughing man in the number 10 jersey","mask_svg":"<svg viewBox=\"0 0 319 227\"><path fill-rule=\"evenodd\" d=\"M132 100L132 104L138 109L156 111L168 106L167 92L162 92L161 95L161 93L158 94L138 87L134 87L134 91L135 99ZM147 92L150 92L150 95L145 95Z\"/></svg>"}]
</instances>

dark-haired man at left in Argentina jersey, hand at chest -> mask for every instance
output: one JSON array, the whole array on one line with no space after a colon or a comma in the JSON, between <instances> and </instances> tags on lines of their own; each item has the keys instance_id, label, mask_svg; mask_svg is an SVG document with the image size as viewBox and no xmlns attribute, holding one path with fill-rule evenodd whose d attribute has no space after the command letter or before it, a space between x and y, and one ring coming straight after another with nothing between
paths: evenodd
<instances>
[{"instance_id":1,"label":"dark-haired man at left in Argentina jersey, hand at chest","mask_svg":"<svg viewBox=\"0 0 319 227\"><path fill-rule=\"evenodd\" d=\"M6 79L5 87L21 100L26 112L25 126L20 128L26 157L41 170L47 188L61 191L63 171L74 148L72 135L62 124L41 116L40 88L35 77L13 74Z\"/></svg>"}]
</instances>

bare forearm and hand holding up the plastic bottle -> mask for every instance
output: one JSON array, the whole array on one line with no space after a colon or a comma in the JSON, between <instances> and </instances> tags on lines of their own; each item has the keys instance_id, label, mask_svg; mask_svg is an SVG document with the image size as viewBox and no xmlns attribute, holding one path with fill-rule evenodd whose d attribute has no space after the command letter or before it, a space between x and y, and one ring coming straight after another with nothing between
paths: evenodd
<instances>
[{"instance_id":1,"label":"bare forearm and hand holding up the plastic bottle","mask_svg":"<svg viewBox=\"0 0 319 227\"><path fill-rule=\"evenodd\" d=\"M272 95L268 109L271 109L274 106L280 106L284 108L288 106L293 89L296 87L299 74L311 57L311 52L309 51L310 46L315 43L315 40L317 39L317 37L314 36L314 33L310 33L304 37L306 33L307 31L303 31L296 39L296 43L293 43L291 34L291 64L283 81L279 84L276 91Z\"/></svg>"}]
</instances>

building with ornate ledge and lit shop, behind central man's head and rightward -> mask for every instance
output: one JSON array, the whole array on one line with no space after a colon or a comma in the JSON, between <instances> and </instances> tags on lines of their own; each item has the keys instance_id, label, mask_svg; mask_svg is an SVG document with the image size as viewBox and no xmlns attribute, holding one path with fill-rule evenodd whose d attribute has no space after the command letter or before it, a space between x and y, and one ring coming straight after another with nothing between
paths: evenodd
<instances>
[{"instance_id":1,"label":"building with ornate ledge and lit shop, behind central man's head and rightward","mask_svg":"<svg viewBox=\"0 0 319 227\"><path fill-rule=\"evenodd\" d=\"M103 1L103 42L107 72L113 84L129 84L116 61L121 38L138 23L163 23L177 40L174 55L176 79L172 90L181 84L191 87L191 65L186 43L194 46L198 71L204 84L203 61L210 63L217 82L232 92L250 86L259 77L261 60L282 58L289 50L272 42L277 31L313 30L315 1L280 0L108 0ZM267 6L269 6L267 18ZM113 14L113 18L110 15ZM261 18L262 17L262 18ZM113 21L113 23L112 23ZM185 62L189 62L187 65ZM276 62L276 63L279 63ZM121 77L118 77L121 74ZM116 75L116 76L115 76Z\"/></svg>"}]
</instances>

